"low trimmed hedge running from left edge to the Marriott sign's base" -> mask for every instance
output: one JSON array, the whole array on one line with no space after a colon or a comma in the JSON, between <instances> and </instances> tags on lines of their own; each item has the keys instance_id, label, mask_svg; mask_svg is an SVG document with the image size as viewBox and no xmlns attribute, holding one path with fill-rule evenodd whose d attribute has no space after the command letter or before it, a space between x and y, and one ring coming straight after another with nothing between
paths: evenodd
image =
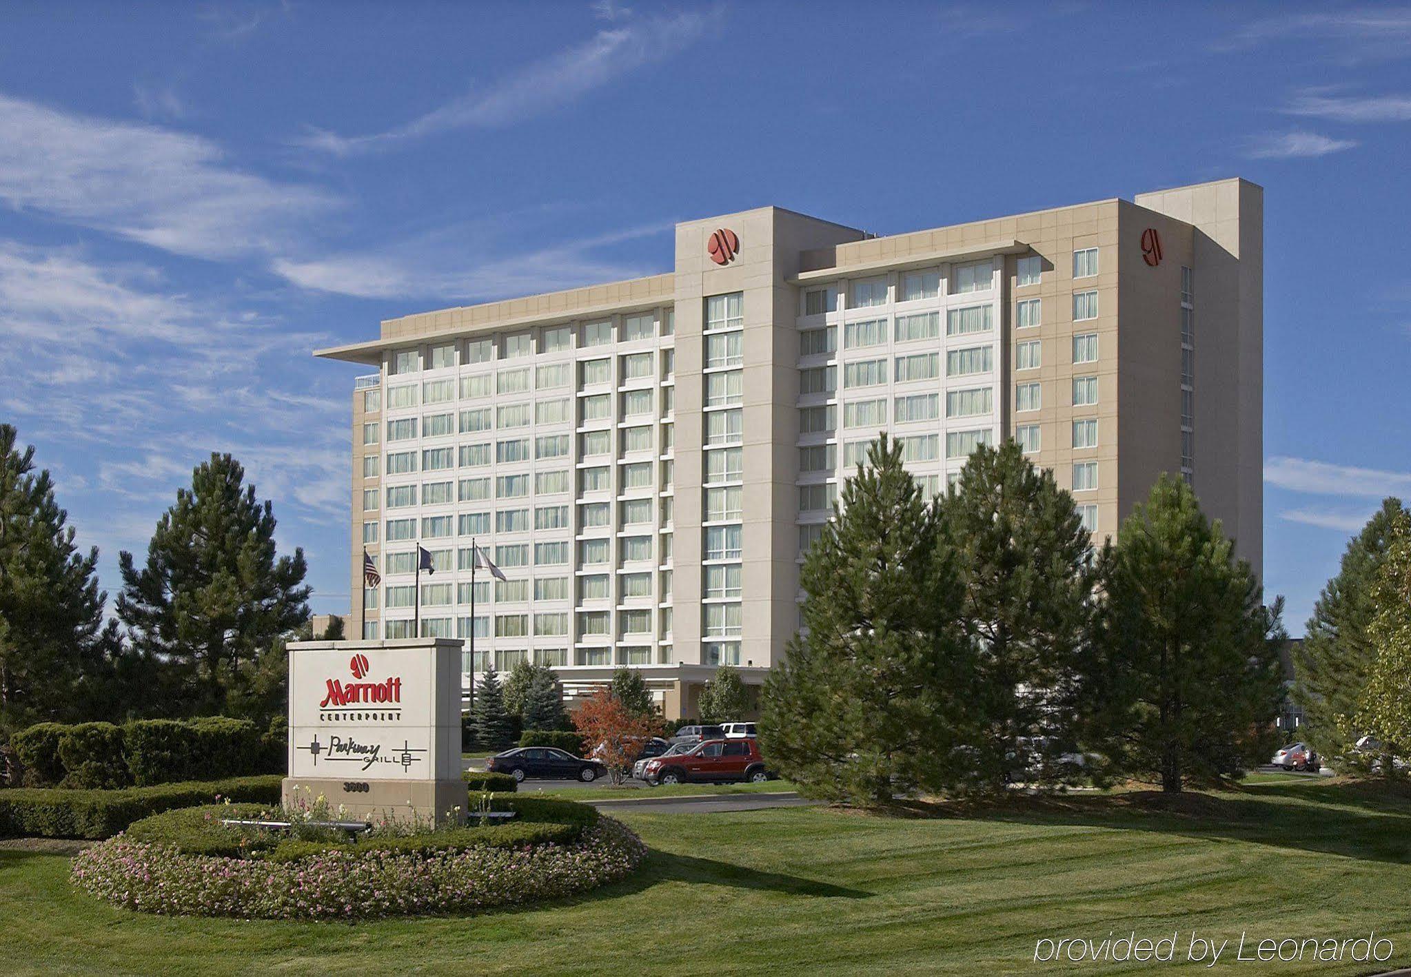
<instances>
[{"instance_id":1,"label":"low trimmed hedge running from left edge to the Marriott sign's base","mask_svg":"<svg viewBox=\"0 0 1411 977\"><path fill-rule=\"evenodd\" d=\"M128 787L119 791L17 787L0 791L0 837L103 839L172 808L222 799L278 804L277 774L219 781Z\"/></svg>"}]
</instances>

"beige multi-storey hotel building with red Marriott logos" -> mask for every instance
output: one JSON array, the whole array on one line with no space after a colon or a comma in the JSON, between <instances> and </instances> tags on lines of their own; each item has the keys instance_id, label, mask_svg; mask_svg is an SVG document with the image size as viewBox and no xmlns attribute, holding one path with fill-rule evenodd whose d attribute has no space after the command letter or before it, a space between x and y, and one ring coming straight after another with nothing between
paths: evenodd
<instances>
[{"instance_id":1,"label":"beige multi-storey hotel building with red Marriott logos","mask_svg":"<svg viewBox=\"0 0 1411 977\"><path fill-rule=\"evenodd\" d=\"M411 636L419 543L420 632L474 634L467 687L528 657L576 695L628 665L679 716L720 664L761 682L879 430L933 492L1013 437L1098 537L1180 472L1260 568L1263 192L1240 179L888 237L761 207L677 224L667 274L316 355L375 369L363 636ZM473 540L508 579L473 592Z\"/></svg>"}]
</instances>

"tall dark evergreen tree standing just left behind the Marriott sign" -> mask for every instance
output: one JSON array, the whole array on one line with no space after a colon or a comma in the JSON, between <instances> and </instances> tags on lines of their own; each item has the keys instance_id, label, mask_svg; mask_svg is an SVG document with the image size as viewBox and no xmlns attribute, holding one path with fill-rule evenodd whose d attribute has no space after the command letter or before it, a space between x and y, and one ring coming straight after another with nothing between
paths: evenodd
<instances>
[{"instance_id":1,"label":"tall dark evergreen tree standing just left behind the Marriott sign","mask_svg":"<svg viewBox=\"0 0 1411 977\"><path fill-rule=\"evenodd\" d=\"M147 564L121 554L117 615L131 643L164 663L171 712L267 722L268 689L254 687L282 667L267 661L284 657L278 639L309 620L309 588L303 550L275 555L274 508L243 482L229 454L192 472L157 523Z\"/></svg>"}]
</instances>

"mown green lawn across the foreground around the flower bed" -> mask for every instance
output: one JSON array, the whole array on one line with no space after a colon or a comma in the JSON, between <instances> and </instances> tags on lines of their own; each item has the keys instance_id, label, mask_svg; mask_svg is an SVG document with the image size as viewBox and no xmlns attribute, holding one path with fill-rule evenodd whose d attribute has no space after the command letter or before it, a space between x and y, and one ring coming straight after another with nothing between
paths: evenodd
<instances>
[{"instance_id":1,"label":"mown green lawn across the foreground around the flower bed","mask_svg":"<svg viewBox=\"0 0 1411 977\"><path fill-rule=\"evenodd\" d=\"M1034 940L1133 929L1180 930L1178 959L1192 929L1222 939L1376 929L1395 942L1381 967L1243 963L1235 973L1411 964L1411 805L1311 780L1187 804L1201 818L1101 795L924 821L827 808L634 809L618 816L652 854L629 881L533 911L354 926L140 916L71 891L62 856L0 852L0 969L1110 973L1034 964Z\"/></svg>"}]
</instances>

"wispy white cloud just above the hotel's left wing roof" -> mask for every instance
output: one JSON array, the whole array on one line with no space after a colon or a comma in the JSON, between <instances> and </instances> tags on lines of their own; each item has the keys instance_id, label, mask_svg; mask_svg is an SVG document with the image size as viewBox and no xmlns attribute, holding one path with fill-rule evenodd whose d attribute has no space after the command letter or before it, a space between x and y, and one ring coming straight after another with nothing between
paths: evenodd
<instances>
[{"instance_id":1,"label":"wispy white cloud just above the hotel's left wing roof","mask_svg":"<svg viewBox=\"0 0 1411 977\"><path fill-rule=\"evenodd\" d=\"M666 223L650 224L515 252L499 248L492 238L442 230L377 252L277 261L274 271L306 289L363 299L423 296L484 302L656 274L660 268L597 255L610 245L666 234L670 228ZM443 247L443 238L460 244ZM467 240L478 244L467 245Z\"/></svg>"}]
</instances>

